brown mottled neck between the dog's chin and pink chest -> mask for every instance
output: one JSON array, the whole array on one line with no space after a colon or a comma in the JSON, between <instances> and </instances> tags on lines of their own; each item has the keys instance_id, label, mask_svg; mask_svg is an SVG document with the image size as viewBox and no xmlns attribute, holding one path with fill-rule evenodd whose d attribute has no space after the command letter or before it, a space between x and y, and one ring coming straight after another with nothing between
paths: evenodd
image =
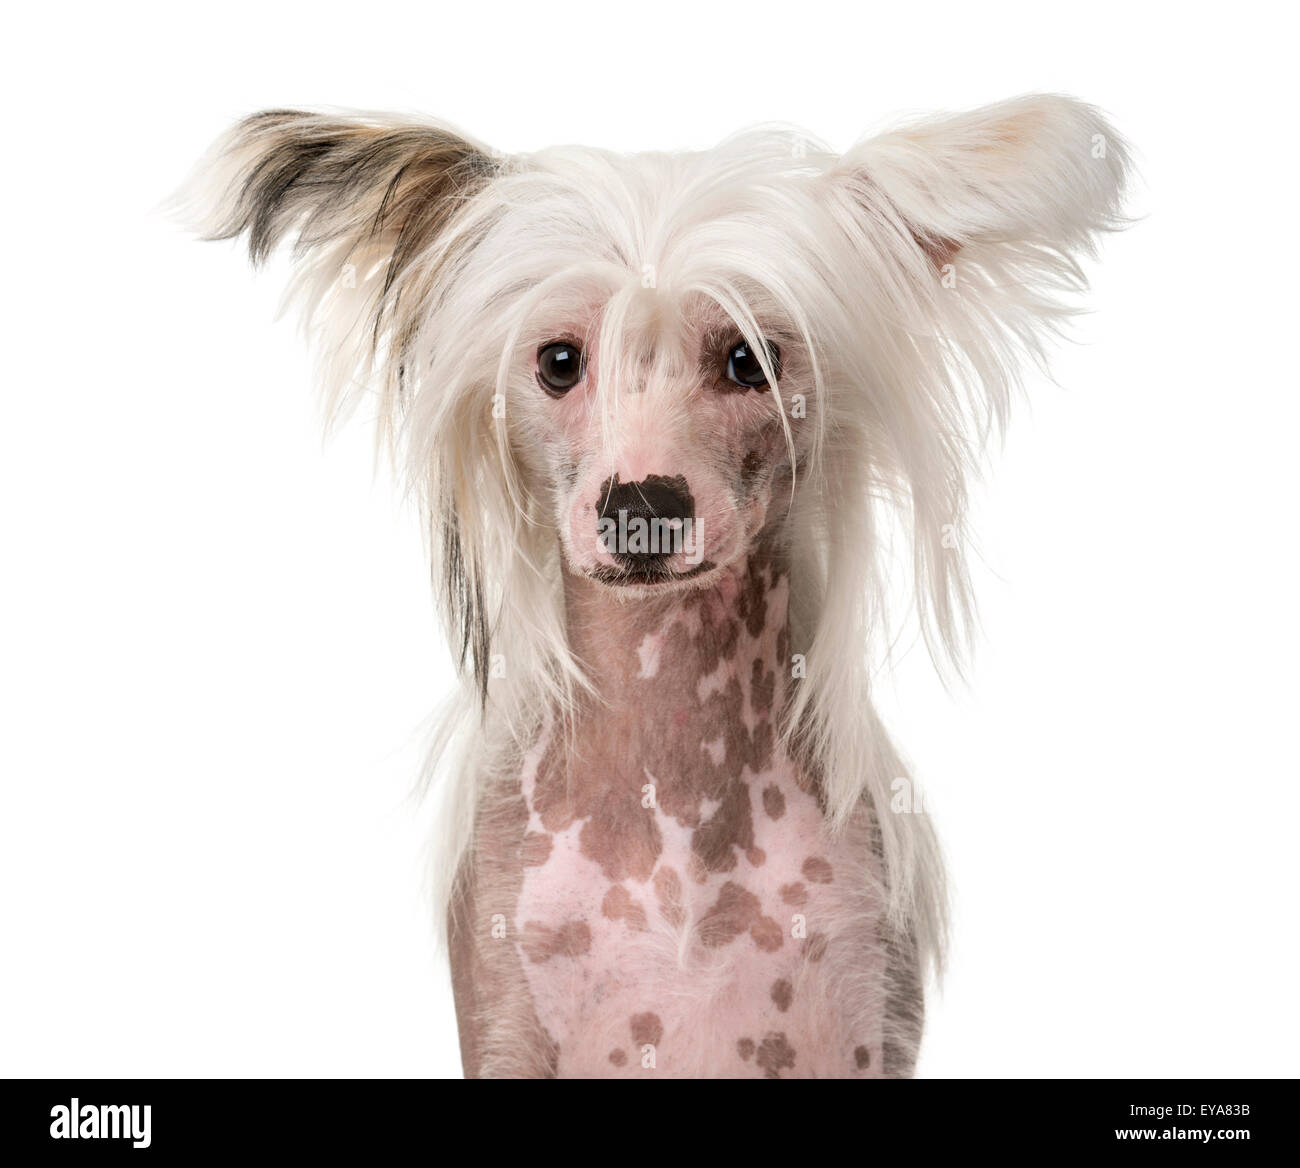
<instances>
[{"instance_id":1,"label":"brown mottled neck between the dog's chin and pink chest","mask_svg":"<svg viewBox=\"0 0 1300 1168\"><path fill-rule=\"evenodd\" d=\"M656 817L692 832L682 862L694 882L733 871L738 856L762 865L750 783L767 791L784 775L803 787L780 732L792 684L785 564L758 551L710 587L649 601L567 581L571 644L594 693L572 734L551 740L532 800L547 830L585 821L582 852L611 881L650 879L664 848Z\"/></svg>"}]
</instances>

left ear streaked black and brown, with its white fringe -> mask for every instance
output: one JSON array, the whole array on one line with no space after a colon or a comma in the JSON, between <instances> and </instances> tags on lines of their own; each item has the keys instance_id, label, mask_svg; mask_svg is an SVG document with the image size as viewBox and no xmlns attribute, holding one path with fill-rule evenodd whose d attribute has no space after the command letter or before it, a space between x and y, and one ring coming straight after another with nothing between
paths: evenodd
<instances>
[{"instance_id":1,"label":"left ear streaked black and brown, with its white fringe","mask_svg":"<svg viewBox=\"0 0 1300 1168\"><path fill-rule=\"evenodd\" d=\"M321 356L355 378L384 346L396 376L436 284L430 260L497 166L432 122L266 111L216 142L174 209L207 239L244 238L255 264L290 243ZM341 397L330 390L332 414Z\"/></svg>"}]
</instances>

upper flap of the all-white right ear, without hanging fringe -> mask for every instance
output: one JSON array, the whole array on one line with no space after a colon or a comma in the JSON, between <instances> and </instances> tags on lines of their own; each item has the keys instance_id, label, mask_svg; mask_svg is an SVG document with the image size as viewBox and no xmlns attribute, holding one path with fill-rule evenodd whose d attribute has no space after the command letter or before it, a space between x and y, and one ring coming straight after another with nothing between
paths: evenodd
<instances>
[{"instance_id":1,"label":"upper flap of the all-white right ear, without hanging fringe","mask_svg":"<svg viewBox=\"0 0 1300 1168\"><path fill-rule=\"evenodd\" d=\"M1097 109L1034 95L870 138L837 177L942 268L1001 245L1089 252L1095 233L1123 222L1127 169L1128 150Z\"/></svg>"}]
</instances>

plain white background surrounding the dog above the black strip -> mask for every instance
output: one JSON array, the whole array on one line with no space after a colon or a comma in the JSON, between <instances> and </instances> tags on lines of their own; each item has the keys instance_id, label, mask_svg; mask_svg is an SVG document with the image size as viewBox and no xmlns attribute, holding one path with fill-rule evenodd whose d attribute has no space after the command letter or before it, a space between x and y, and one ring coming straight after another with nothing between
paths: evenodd
<instances>
[{"instance_id":1,"label":"plain white background surrounding the dog above the black strip","mask_svg":"<svg viewBox=\"0 0 1300 1168\"><path fill-rule=\"evenodd\" d=\"M40 12L42 14L34 16ZM408 800L450 674L370 434L153 213L261 107L703 147L1031 90L1144 216L979 507L984 646L881 695L956 890L924 1076L1294 1073L1295 30L1282 5L25 5L9 14L0 1073L459 1073Z\"/></svg>"}]
</instances>

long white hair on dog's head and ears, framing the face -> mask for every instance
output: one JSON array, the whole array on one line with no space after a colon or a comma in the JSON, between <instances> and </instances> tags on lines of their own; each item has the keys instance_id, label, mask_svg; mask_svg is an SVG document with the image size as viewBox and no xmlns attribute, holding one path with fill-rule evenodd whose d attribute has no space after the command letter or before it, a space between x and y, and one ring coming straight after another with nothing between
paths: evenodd
<instances>
[{"instance_id":1,"label":"long white hair on dog's head and ears, framing the face","mask_svg":"<svg viewBox=\"0 0 1300 1168\"><path fill-rule=\"evenodd\" d=\"M464 667L430 754L446 771L443 895L477 784L585 684L554 520L491 402L530 386L530 321L566 304L604 306L616 385L649 271L658 295L714 302L757 351L776 319L807 354L816 408L788 522L807 676L785 730L832 825L875 806L890 921L923 965L940 961L939 848L927 816L889 813L905 770L871 706L868 646L889 637L883 532L901 516L920 628L959 670L967 479L1022 362L1041 363L1062 297L1084 287L1078 258L1122 224L1127 170L1098 112L1061 96L920 121L842 156L767 129L697 153L506 157L434 122L298 112L213 147L185 213L211 238L247 234L255 260L291 241L329 416L376 402L429 518ZM489 685L493 646L508 670Z\"/></svg>"}]
</instances>

